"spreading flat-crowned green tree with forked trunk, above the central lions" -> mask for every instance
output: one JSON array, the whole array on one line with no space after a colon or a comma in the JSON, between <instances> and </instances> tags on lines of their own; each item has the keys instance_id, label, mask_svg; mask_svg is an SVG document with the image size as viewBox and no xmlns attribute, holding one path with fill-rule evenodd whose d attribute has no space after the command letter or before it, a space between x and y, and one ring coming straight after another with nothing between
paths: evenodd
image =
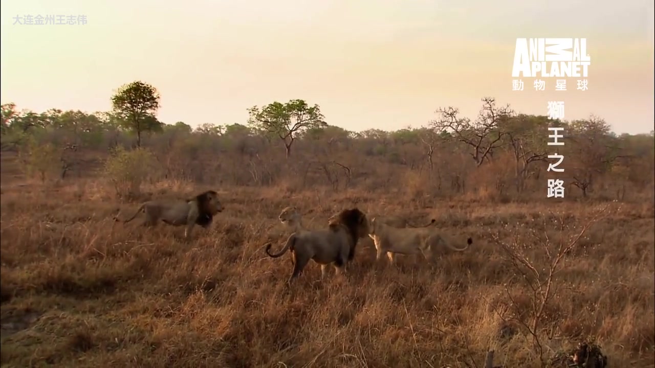
<instances>
[{"instance_id":1,"label":"spreading flat-crowned green tree with forked trunk, above the central lions","mask_svg":"<svg viewBox=\"0 0 655 368\"><path fill-rule=\"evenodd\" d=\"M248 109L248 123L257 130L277 136L284 143L287 158L291 146L305 130L327 126L318 105L310 106L304 100L290 100L287 103L273 102L264 107Z\"/></svg>"}]
</instances>

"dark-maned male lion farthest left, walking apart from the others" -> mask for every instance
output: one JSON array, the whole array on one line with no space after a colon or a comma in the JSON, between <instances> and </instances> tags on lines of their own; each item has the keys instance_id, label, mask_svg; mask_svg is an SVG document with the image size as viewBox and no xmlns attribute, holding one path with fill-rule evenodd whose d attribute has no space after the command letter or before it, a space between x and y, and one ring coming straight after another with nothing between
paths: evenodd
<instances>
[{"instance_id":1,"label":"dark-maned male lion farthest left, walking apart from the others","mask_svg":"<svg viewBox=\"0 0 655 368\"><path fill-rule=\"evenodd\" d=\"M208 227L214 215L223 212L223 205L218 200L218 193L206 191L186 200L150 200L141 204L129 219L121 221L118 217L114 217L114 221L128 223L140 212L145 213L142 225L146 227L157 225L159 220L173 226L186 225L184 237L188 240L194 225Z\"/></svg>"}]
</instances>

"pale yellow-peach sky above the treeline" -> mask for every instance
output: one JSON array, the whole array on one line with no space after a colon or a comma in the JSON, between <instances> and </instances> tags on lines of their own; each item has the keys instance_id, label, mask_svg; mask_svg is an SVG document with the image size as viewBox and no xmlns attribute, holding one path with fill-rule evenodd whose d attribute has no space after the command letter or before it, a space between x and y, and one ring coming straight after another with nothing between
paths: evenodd
<instances>
[{"instance_id":1,"label":"pale yellow-peach sky above the treeline","mask_svg":"<svg viewBox=\"0 0 655 368\"><path fill-rule=\"evenodd\" d=\"M648 0L3 0L2 103L107 111L122 84L153 84L158 117L244 124L246 109L295 98L348 130L418 127L440 106L474 118L485 96L618 133L654 128L653 3ZM14 25L18 16L84 25ZM587 38L589 90L512 91L518 37Z\"/></svg>"}]
</instances>

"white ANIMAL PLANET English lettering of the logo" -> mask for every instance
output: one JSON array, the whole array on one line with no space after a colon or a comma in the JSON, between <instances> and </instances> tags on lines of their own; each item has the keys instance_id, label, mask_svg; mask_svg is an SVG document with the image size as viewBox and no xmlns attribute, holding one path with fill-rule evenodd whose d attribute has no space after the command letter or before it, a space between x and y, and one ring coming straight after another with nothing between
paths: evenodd
<instances>
[{"instance_id":1,"label":"white ANIMAL PLANET English lettering of the logo","mask_svg":"<svg viewBox=\"0 0 655 368\"><path fill-rule=\"evenodd\" d=\"M587 39L516 39L512 77L587 77L589 65Z\"/></svg>"}]
</instances>

